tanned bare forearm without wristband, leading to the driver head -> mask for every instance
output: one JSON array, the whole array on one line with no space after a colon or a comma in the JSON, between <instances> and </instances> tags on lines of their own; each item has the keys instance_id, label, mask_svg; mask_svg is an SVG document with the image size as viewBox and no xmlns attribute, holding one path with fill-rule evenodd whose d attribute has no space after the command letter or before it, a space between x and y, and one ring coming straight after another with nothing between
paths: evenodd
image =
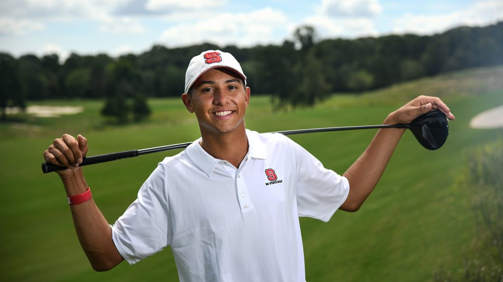
<instances>
[{"instance_id":1,"label":"tanned bare forearm without wristband, leading to the driver head","mask_svg":"<svg viewBox=\"0 0 503 282\"><path fill-rule=\"evenodd\" d=\"M392 122L391 122L392 123ZM384 124L391 124L388 118ZM403 132L402 128L381 128L369 147L344 173L350 193L342 210L357 211L379 182Z\"/></svg>"}]
</instances>

